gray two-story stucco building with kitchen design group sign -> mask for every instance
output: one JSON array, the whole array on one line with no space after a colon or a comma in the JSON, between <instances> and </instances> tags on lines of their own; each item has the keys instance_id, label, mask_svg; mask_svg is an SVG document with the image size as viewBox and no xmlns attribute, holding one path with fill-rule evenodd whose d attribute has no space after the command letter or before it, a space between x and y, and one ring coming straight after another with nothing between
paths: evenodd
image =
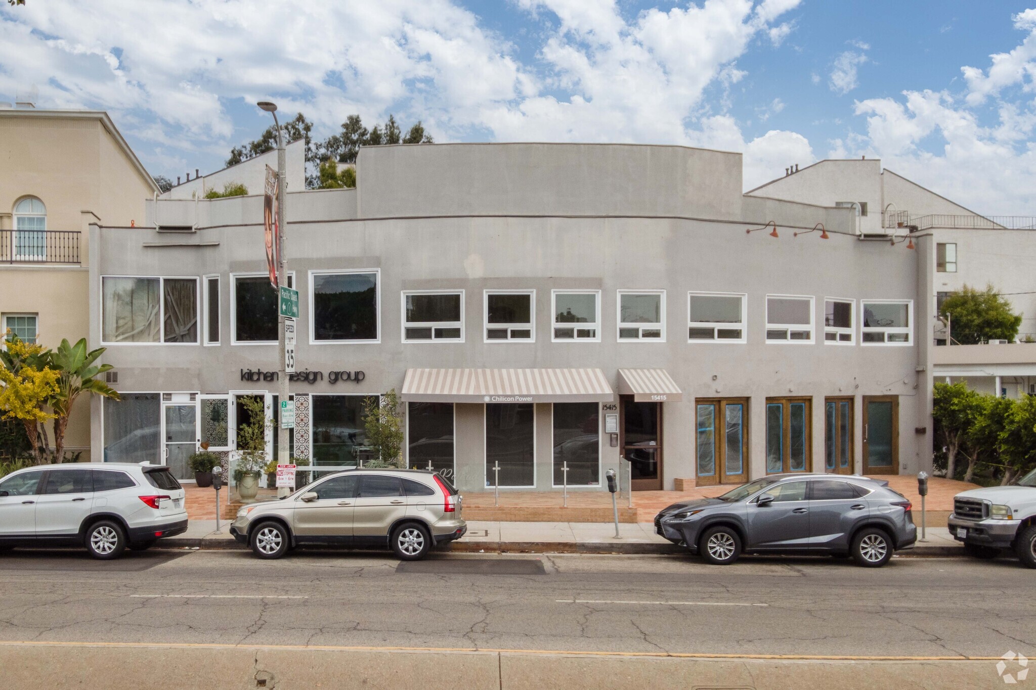
<instances>
[{"instance_id":1,"label":"gray two-story stucco building with kitchen design group sign","mask_svg":"<svg viewBox=\"0 0 1036 690\"><path fill-rule=\"evenodd\" d=\"M468 491L929 467L930 236L744 194L741 155L702 149L404 145L357 169L287 198L292 453L315 469L370 452L363 401L390 389L407 462ZM262 197L148 214L90 227L90 338L123 393L93 400L94 457L190 479L198 443L233 455L241 396L276 409Z\"/></svg>"}]
</instances>

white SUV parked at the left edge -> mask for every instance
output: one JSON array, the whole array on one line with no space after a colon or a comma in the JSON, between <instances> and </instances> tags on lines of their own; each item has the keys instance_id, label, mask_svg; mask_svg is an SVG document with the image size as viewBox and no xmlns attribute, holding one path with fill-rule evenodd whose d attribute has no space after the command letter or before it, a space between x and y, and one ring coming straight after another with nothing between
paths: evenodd
<instances>
[{"instance_id":1,"label":"white SUV parked at the left edge","mask_svg":"<svg viewBox=\"0 0 1036 690\"><path fill-rule=\"evenodd\" d=\"M0 551L82 545L117 559L186 529L183 487L166 467L40 464L0 479Z\"/></svg>"}]
</instances>

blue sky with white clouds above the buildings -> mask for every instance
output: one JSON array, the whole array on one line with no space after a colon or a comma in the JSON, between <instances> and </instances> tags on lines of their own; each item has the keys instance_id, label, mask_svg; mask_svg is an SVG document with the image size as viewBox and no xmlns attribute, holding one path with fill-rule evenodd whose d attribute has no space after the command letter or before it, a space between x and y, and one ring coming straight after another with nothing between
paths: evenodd
<instances>
[{"instance_id":1,"label":"blue sky with white clouds above the buildings","mask_svg":"<svg viewBox=\"0 0 1036 690\"><path fill-rule=\"evenodd\" d=\"M1036 0L1029 0L1036 5ZM788 164L881 157L988 214L1036 215L1036 7L1010 0L27 0L0 100L111 113L155 175L223 167L300 111L436 141L637 142Z\"/></svg>"}]
</instances>

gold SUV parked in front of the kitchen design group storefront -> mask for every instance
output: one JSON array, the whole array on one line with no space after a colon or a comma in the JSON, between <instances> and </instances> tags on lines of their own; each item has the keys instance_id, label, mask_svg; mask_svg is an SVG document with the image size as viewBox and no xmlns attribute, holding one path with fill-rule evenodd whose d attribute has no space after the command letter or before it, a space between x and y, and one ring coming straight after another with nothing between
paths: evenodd
<instances>
[{"instance_id":1,"label":"gold SUV parked in front of the kitchen design group storefront","mask_svg":"<svg viewBox=\"0 0 1036 690\"><path fill-rule=\"evenodd\" d=\"M387 546L403 561L464 536L461 497L448 480L420 470L350 470L323 477L277 501L237 511L234 539L260 559L289 548L334 544Z\"/></svg>"}]
</instances>

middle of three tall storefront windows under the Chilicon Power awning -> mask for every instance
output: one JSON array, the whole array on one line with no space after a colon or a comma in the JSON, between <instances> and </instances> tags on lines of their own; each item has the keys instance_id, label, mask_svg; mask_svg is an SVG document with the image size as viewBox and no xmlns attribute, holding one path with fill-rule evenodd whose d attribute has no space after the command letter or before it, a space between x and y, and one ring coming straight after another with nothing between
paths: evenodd
<instances>
[{"instance_id":1,"label":"middle of three tall storefront windows under the Chilicon Power awning","mask_svg":"<svg viewBox=\"0 0 1036 690\"><path fill-rule=\"evenodd\" d=\"M486 404L486 486L497 462L500 486L535 485L534 439L531 402Z\"/></svg>"}]
</instances>

